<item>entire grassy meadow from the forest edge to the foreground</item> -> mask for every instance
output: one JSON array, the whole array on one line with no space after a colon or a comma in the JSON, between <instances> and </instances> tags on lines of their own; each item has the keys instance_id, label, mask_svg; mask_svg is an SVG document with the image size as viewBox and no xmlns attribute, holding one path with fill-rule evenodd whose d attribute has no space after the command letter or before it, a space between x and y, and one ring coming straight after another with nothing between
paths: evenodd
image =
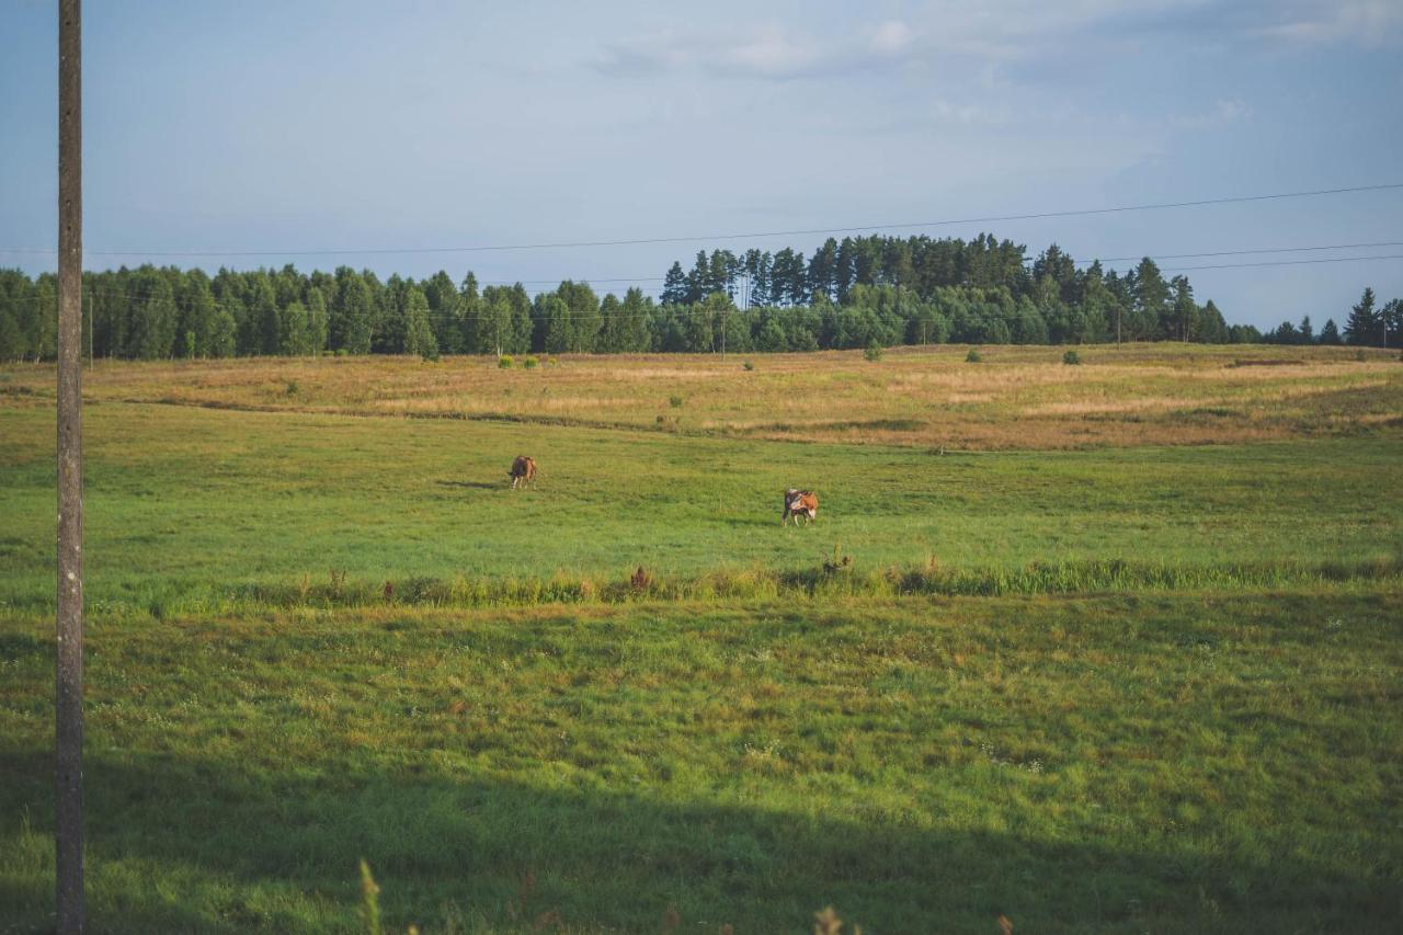
<instances>
[{"instance_id":1,"label":"entire grassy meadow from the forest edge to the foreground","mask_svg":"<svg viewBox=\"0 0 1403 935\"><path fill-rule=\"evenodd\" d=\"M94 929L358 931L365 858L387 931L1396 931L1403 365L964 352L100 361ZM0 371L0 932L52 387Z\"/></svg>"}]
</instances>

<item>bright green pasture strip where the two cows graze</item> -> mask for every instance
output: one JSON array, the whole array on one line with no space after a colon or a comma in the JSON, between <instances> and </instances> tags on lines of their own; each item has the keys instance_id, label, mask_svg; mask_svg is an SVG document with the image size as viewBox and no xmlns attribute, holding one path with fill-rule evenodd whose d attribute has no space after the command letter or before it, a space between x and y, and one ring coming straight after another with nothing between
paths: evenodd
<instances>
[{"instance_id":1,"label":"bright green pasture strip where the two cows graze","mask_svg":"<svg viewBox=\"0 0 1403 935\"><path fill-rule=\"evenodd\" d=\"M588 578L603 594L640 564L685 594L721 574L760 587L723 594L759 595L811 576L835 546L863 580L1139 569L1034 590L1376 576L1403 555L1396 437L939 455L125 404L93 407L86 427L87 597L111 611L286 604L325 594L333 573L354 594L391 581L403 598L419 580L467 604L508 581L526 594L564 581L568 597ZM0 601L48 608L52 414L0 409ZM535 490L508 490L519 452L540 463ZM818 490L817 525L780 528L788 486Z\"/></svg>"}]
</instances>

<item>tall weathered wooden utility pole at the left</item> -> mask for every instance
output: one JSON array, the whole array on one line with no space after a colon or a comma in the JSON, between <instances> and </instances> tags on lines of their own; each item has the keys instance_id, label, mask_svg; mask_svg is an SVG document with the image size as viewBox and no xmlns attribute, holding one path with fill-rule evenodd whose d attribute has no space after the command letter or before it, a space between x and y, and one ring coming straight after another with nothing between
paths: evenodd
<instances>
[{"instance_id":1,"label":"tall weathered wooden utility pole at the left","mask_svg":"<svg viewBox=\"0 0 1403 935\"><path fill-rule=\"evenodd\" d=\"M83 931L83 34L59 0L59 619L55 900Z\"/></svg>"}]
</instances>

